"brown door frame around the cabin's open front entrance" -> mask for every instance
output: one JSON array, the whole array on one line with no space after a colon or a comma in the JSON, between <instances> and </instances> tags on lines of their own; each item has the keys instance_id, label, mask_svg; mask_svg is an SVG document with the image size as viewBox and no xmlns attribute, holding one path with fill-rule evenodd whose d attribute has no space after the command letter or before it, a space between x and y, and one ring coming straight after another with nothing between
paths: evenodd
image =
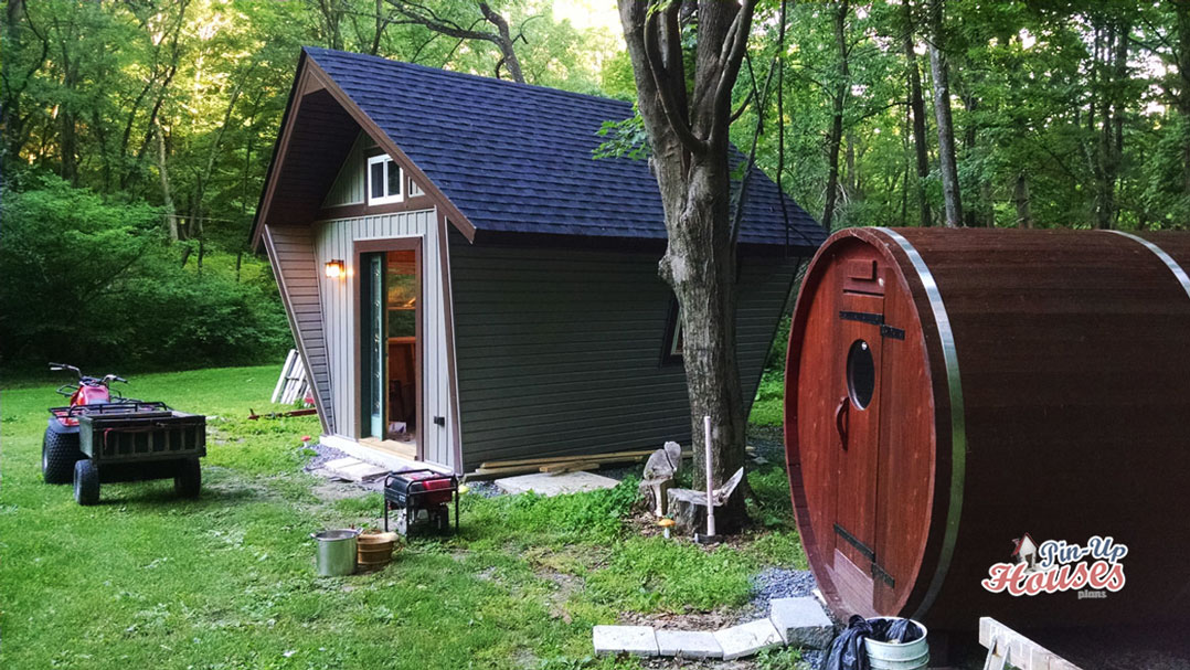
<instances>
[{"instance_id":1,"label":"brown door frame around the cabin's open front entrance","mask_svg":"<svg viewBox=\"0 0 1190 670\"><path fill-rule=\"evenodd\" d=\"M355 342L355 370L356 370L356 383L352 389L352 395L355 396L355 415L356 415L356 434L355 438L358 442L362 439L364 427L363 427L363 407L361 406L362 384L364 380L363 369L363 356L359 351L359 324L363 319L363 312L361 311L359 294L363 292L363 264L361 263L361 257L365 253L378 253L388 251L413 251L414 268L418 275L418 308L415 311L415 325L414 325L414 349L416 350L416 356L414 359L414 365L418 370L418 383L414 389L414 403L416 405L418 415L418 427L414 436L414 444L416 445L416 459L425 459L425 432L426 432L426 408L422 399L422 389L426 386L426 370L425 370L425 294L426 294L426 273L425 262L422 258L422 236L408 236L408 237L392 237L384 239L357 239L353 243L352 249L352 263L357 269L357 286L352 290L352 301L355 303L355 319L352 320L352 333ZM387 301L387 299L386 299ZM386 302L387 307L387 302ZM384 323L388 323L387 314ZM388 432L388 342L386 338L384 343L384 383L382 384L382 393L384 394L384 400L381 403L384 409L384 420L382 421L384 426L384 432Z\"/></svg>"}]
</instances>

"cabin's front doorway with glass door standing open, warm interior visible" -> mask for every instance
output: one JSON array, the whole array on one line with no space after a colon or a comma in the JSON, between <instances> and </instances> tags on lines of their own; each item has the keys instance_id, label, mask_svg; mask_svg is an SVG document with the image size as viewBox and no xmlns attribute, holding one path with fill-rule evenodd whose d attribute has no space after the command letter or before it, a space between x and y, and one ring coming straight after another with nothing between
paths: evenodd
<instances>
[{"instance_id":1,"label":"cabin's front doorway with glass door standing open, warm interior visible","mask_svg":"<svg viewBox=\"0 0 1190 670\"><path fill-rule=\"evenodd\" d=\"M421 458L421 248L394 239L357 243L357 250L359 438Z\"/></svg>"}]
</instances>

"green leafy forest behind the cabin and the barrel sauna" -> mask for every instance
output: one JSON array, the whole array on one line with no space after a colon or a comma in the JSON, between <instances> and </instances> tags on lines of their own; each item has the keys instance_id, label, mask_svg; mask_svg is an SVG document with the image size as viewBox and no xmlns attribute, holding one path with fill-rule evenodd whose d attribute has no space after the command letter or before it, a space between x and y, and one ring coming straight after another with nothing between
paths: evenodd
<instances>
[{"instance_id":1,"label":"green leafy forest behind the cabin and the barrel sauna","mask_svg":"<svg viewBox=\"0 0 1190 670\"><path fill-rule=\"evenodd\" d=\"M787 2L784 31L781 5L759 5L733 139L828 230L1190 224L1190 0ZM302 45L635 100L610 0L4 12L8 372L280 359L248 236ZM608 130L639 149L639 123Z\"/></svg>"}]
</instances>

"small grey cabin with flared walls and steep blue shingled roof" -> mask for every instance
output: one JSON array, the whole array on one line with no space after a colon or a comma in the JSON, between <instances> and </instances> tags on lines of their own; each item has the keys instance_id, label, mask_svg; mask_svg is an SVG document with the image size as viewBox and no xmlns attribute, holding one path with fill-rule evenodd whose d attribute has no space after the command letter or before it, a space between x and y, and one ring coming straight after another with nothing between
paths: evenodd
<instances>
[{"instance_id":1,"label":"small grey cabin with flared walls and steep blue shingled roof","mask_svg":"<svg viewBox=\"0 0 1190 670\"><path fill-rule=\"evenodd\" d=\"M273 264L324 444L461 472L689 440L657 182L647 161L593 156L605 121L632 113L302 50L252 243ZM739 232L749 399L796 268L823 239L754 170Z\"/></svg>"}]
</instances>

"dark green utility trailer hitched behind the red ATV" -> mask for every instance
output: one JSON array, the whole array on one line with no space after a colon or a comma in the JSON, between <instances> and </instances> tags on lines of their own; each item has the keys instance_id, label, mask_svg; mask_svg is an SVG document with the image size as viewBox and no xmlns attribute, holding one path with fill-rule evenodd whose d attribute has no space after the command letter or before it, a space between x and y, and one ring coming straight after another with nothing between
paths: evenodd
<instances>
[{"instance_id":1,"label":"dark green utility trailer hitched behind the red ATV","mask_svg":"<svg viewBox=\"0 0 1190 670\"><path fill-rule=\"evenodd\" d=\"M139 400L55 407L50 413L51 430L77 431L74 495L79 505L98 503L100 483L170 477L178 495L198 497L199 458L207 453L206 417Z\"/></svg>"}]
</instances>

